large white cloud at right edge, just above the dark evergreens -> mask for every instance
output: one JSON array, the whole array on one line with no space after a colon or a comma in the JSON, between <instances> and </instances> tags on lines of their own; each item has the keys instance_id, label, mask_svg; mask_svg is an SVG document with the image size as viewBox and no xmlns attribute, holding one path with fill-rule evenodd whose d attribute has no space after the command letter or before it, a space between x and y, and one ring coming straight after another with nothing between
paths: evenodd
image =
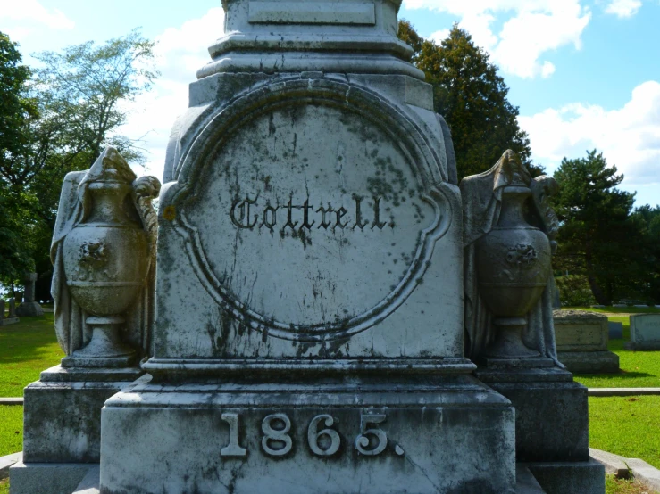
<instances>
[{"instance_id":1,"label":"large white cloud at right edge, just above the dark evergreens","mask_svg":"<svg viewBox=\"0 0 660 494\"><path fill-rule=\"evenodd\" d=\"M655 185L660 192L660 83L637 86L621 109L573 103L520 117L533 158L552 172L564 157L597 149L624 173L626 185ZM660 196L660 193L656 193Z\"/></svg>"}]
</instances>

